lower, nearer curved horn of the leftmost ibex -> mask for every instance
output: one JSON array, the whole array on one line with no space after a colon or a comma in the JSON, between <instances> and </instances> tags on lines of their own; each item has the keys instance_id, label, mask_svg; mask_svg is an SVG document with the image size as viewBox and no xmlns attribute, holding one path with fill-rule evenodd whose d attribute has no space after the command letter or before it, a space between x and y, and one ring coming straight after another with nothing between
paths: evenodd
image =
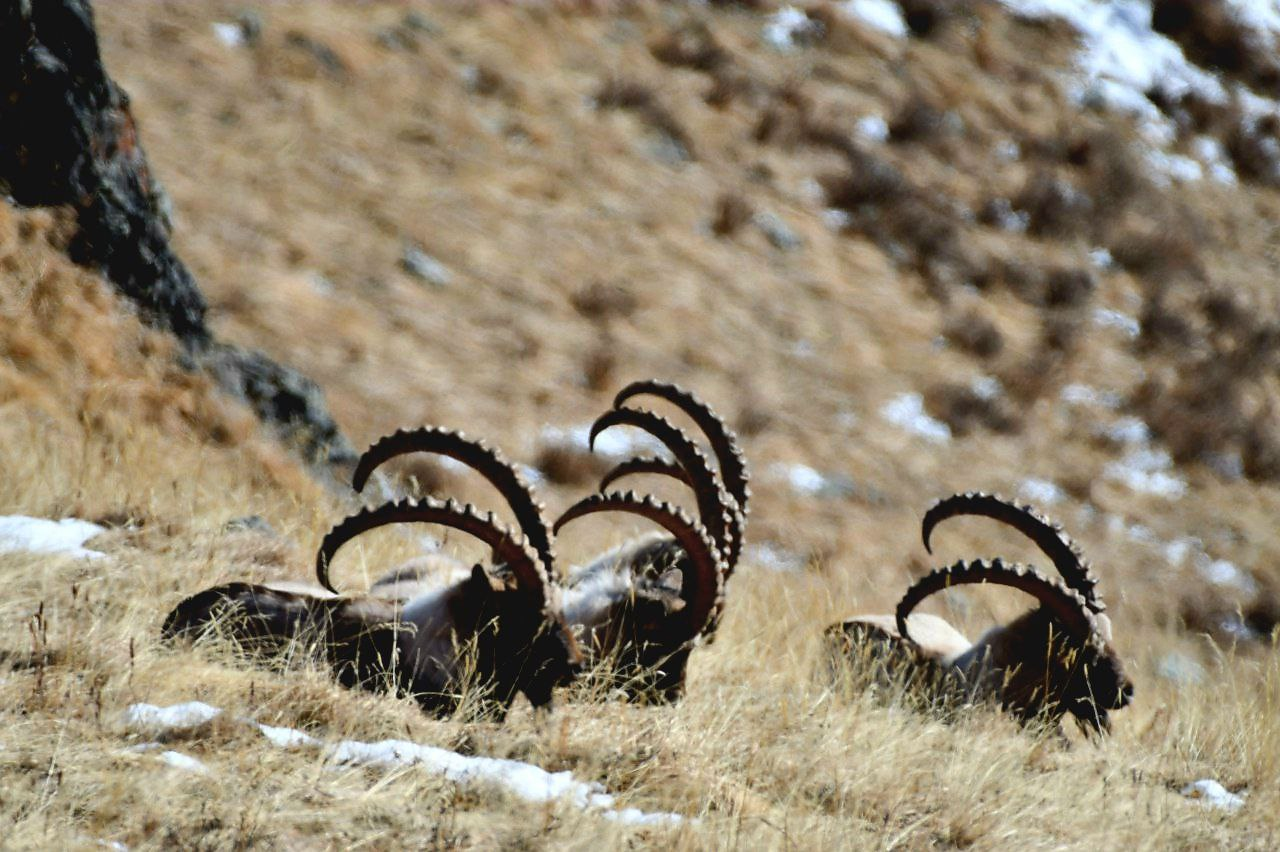
<instances>
[{"instance_id":1,"label":"lower, nearer curved horn of the leftmost ibex","mask_svg":"<svg viewBox=\"0 0 1280 852\"><path fill-rule=\"evenodd\" d=\"M334 555L356 536L389 523L439 523L475 536L489 545L495 562L511 569L521 588L536 594L545 605L547 574L525 536L500 526L492 512L480 514L480 510L470 503L442 501L434 498L384 503L376 509L361 509L330 530L320 542L320 550L316 551L316 580L320 585L337 594L329 582L329 563Z\"/></svg>"}]
</instances>

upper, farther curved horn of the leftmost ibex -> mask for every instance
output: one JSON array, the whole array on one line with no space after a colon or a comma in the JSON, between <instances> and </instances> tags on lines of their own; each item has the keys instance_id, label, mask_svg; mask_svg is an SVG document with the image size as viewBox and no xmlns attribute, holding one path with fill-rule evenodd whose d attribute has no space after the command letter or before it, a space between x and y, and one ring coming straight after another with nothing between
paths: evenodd
<instances>
[{"instance_id":1,"label":"upper, farther curved horn of the leftmost ibex","mask_svg":"<svg viewBox=\"0 0 1280 852\"><path fill-rule=\"evenodd\" d=\"M483 476L489 485L498 489L507 505L516 516L521 532L538 551L548 576L556 571L556 551L552 549L552 536L543 516L543 504L534 496L534 489L520 471L502 453L481 440L467 438L452 429L424 427L402 429L392 435L378 439L365 450L356 464L351 485L357 491L365 490L370 475L383 463L407 453L438 453L462 462Z\"/></svg>"}]
</instances>

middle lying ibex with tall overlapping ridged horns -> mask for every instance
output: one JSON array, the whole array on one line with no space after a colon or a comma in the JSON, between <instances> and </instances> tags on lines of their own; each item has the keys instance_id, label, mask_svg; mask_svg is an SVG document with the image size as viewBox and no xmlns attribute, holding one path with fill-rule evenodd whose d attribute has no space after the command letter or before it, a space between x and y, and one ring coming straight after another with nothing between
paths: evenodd
<instances>
[{"instance_id":1,"label":"middle lying ibex with tall overlapping ridged horns","mask_svg":"<svg viewBox=\"0 0 1280 852\"><path fill-rule=\"evenodd\" d=\"M653 412L623 406L637 395L658 397L686 413L707 435L719 469L684 430ZM684 691L694 642L709 638L719 622L723 586L742 550L750 498L746 463L733 434L716 412L677 385L636 381L623 388L613 408L591 425L590 445L594 448L599 434L613 426L649 432L671 450L672 459L625 461L604 475L602 493L625 476L669 476L692 489L699 522L631 493L604 493L570 508L556 522L557 531L584 514L625 510L659 521L671 535L632 539L572 569L564 611L572 623L585 628L582 646L589 659L628 698L675 701Z\"/></svg>"}]
</instances>

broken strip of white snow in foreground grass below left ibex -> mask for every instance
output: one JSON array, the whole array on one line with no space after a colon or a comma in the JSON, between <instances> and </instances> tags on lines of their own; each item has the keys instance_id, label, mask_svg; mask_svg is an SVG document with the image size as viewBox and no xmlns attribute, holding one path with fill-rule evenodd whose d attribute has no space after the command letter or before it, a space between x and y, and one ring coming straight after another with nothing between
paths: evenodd
<instances>
[{"instance_id":1,"label":"broken strip of white snow in foreground grass below left ibex","mask_svg":"<svg viewBox=\"0 0 1280 852\"><path fill-rule=\"evenodd\" d=\"M221 715L218 707L202 701L188 701L168 707L154 704L134 704L124 711L124 723L131 728L156 730L182 730L204 724ZM616 797L607 793L600 784L581 782L570 771L549 773L540 766L518 760L499 757L472 757L460 755L436 746L422 746L407 739L383 739L361 742L343 739L325 746L311 734L296 728L265 725L251 719L241 719L243 724L257 728L268 742L279 748L312 746L324 748L325 757L339 765L364 766L420 766L457 784L492 784L513 796L530 802L567 801L580 809L599 811L602 816L635 825L677 825L684 821L678 814L646 814L634 807L616 809ZM156 743L143 743L132 751L150 751ZM209 768L195 757L177 751L161 752L160 759L188 771L206 773Z\"/></svg>"}]
</instances>

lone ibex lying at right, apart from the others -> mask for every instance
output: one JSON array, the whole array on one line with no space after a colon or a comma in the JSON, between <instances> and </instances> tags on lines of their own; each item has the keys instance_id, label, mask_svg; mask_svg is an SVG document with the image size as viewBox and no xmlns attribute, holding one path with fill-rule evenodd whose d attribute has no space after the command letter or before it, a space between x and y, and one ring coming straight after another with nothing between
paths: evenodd
<instances>
[{"instance_id":1,"label":"lone ibex lying at right, apart from the others","mask_svg":"<svg viewBox=\"0 0 1280 852\"><path fill-rule=\"evenodd\" d=\"M1069 713L1089 729L1108 730L1110 711L1132 701L1133 683L1111 647L1111 623L1101 613L1096 581L1070 540L1029 509L988 495L959 495L925 516L925 542L938 521L961 512L1000 517L1028 532L1052 551L1068 582L1000 559L957 562L916 581L893 615L860 615L832 624L828 650L844 660L869 659L882 673L943 701L995 700L1024 722L1056 723ZM988 629L977 642L936 615L911 614L929 595L969 583L1019 588L1039 606Z\"/></svg>"}]
</instances>

